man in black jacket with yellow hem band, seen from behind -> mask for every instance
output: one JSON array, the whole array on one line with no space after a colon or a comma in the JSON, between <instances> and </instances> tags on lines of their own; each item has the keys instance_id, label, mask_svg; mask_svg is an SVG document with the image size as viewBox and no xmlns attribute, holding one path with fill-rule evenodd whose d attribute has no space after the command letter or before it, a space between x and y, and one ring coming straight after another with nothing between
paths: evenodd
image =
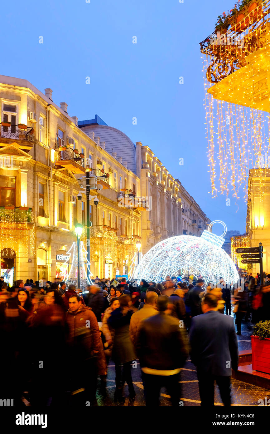
<instances>
[{"instance_id":1,"label":"man in black jacket with yellow hem band, seen from behind","mask_svg":"<svg viewBox=\"0 0 270 434\"><path fill-rule=\"evenodd\" d=\"M179 372L189 354L182 322L167 315L168 297L160 296L159 313L141 323L137 339L146 406L159 405L159 392L166 387L172 406L179 407Z\"/></svg>"}]
</instances>

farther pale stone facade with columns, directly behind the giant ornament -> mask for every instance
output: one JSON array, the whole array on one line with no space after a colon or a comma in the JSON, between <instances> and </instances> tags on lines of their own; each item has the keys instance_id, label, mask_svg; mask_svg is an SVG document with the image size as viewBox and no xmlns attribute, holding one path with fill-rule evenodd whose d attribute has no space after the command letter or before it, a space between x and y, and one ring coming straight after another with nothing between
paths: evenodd
<instances>
[{"instance_id":1,"label":"farther pale stone facade with columns, directly behind the giant ornament","mask_svg":"<svg viewBox=\"0 0 270 434\"><path fill-rule=\"evenodd\" d=\"M200 237L210 223L206 214L148 146L136 142L136 150L141 195L151 205L141 217L143 254L175 235Z\"/></svg>"}]
</instances>

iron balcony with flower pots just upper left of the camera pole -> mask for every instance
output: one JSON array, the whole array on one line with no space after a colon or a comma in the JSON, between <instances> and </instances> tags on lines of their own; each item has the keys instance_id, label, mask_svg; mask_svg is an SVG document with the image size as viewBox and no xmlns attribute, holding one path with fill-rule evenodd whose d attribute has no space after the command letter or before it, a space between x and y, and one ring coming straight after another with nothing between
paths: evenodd
<instances>
[{"instance_id":1,"label":"iron balcony with flower pots just upper left of the camera pole","mask_svg":"<svg viewBox=\"0 0 270 434\"><path fill-rule=\"evenodd\" d=\"M60 147L55 150L55 166L67 168L72 173L85 173L85 158L81 157L72 148Z\"/></svg>"}]
</instances>

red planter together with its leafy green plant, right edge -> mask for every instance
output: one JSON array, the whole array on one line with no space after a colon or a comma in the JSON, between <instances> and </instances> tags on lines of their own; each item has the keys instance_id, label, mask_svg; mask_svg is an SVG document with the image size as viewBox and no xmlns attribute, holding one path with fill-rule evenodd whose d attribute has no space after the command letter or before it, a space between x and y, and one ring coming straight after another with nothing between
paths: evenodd
<instances>
[{"instance_id":1,"label":"red planter together with its leafy green plant, right edge","mask_svg":"<svg viewBox=\"0 0 270 434\"><path fill-rule=\"evenodd\" d=\"M270 320L254 325L251 336L252 369L270 374Z\"/></svg>"}]
</instances>

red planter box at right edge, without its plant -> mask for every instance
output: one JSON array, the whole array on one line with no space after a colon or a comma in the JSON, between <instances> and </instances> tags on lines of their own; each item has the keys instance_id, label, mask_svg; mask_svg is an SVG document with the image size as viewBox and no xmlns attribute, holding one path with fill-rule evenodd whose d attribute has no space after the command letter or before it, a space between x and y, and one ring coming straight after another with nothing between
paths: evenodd
<instances>
[{"instance_id":1,"label":"red planter box at right edge, without its plant","mask_svg":"<svg viewBox=\"0 0 270 434\"><path fill-rule=\"evenodd\" d=\"M251 336L252 369L270 374L270 339Z\"/></svg>"}]
</instances>

